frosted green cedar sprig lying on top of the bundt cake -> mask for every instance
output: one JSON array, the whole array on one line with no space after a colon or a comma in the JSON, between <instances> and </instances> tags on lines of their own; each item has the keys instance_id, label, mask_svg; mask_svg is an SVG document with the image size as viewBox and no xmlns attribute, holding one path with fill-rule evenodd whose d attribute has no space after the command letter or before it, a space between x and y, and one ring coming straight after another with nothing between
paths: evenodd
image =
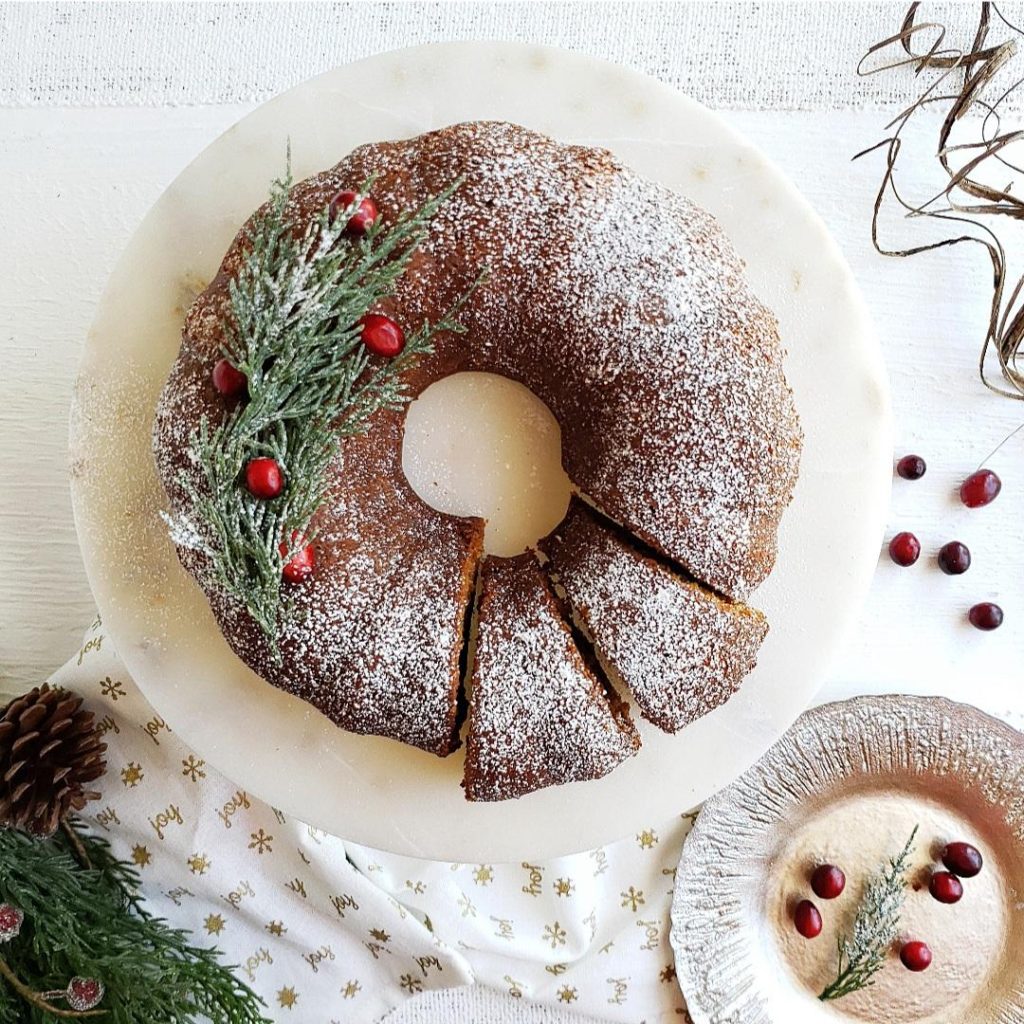
<instances>
[{"instance_id":1,"label":"frosted green cedar sprig lying on top of the bundt cake","mask_svg":"<svg viewBox=\"0 0 1024 1024\"><path fill-rule=\"evenodd\" d=\"M379 410L403 404L403 371L433 350L438 332L462 332L455 315L472 292L436 323L410 332L395 358L371 356L360 317L394 292L461 181L389 226L378 219L353 238L346 225L371 183L345 210L324 207L298 234L287 209L291 168L272 183L229 284L223 325L223 355L245 374L248 400L219 424L202 419L189 440L193 465L179 477L191 511L166 517L175 544L206 555L211 582L246 607L275 657L278 630L293 608L282 571L313 540L309 524L341 438L365 431ZM249 461L261 457L285 474L283 493L269 501L241 483Z\"/></svg>"}]
</instances>

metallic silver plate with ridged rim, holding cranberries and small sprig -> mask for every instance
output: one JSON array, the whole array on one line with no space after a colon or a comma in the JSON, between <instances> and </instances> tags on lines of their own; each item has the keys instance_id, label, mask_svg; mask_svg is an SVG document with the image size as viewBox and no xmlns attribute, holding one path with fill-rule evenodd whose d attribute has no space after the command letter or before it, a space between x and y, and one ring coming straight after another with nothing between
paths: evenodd
<instances>
[{"instance_id":1,"label":"metallic silver plate with ridged rim, holding cranberries and small sprig","mask_svg":"<svg viewBox=\"0 0 1024 1024\"><path fill-rule=\"evenodd\" d=\"M821 1002L865 881L914 826L882 971ZM946 905L928 883L957 841L978 847L984 867ZM846 872L839 899L811 892L820 863ZM794 928L802 899L821 912L816 939ZM932 949L927 971L899 962L911 939ZM697 817L676 874L672 946L695 1024L1024 1021L1024 734L941 697L855 697L807 712Z\"/></svg>"}]
</instances>

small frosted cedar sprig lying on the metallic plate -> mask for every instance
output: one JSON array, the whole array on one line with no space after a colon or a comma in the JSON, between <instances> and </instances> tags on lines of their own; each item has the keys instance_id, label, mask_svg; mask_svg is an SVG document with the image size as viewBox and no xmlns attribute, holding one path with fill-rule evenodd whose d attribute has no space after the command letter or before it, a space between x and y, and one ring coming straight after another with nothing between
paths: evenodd
<instances>
[{"instance_id":1,"label":"small frosted cedar sprig lying on the metallic plate","mask_svg":"<svg viewBox=\"0 0 1024 1024\"><path fill-rule=\"evenodd\" d=\"M853 935L838 940L839 967L836 980L818 996L822 1001L839 999L874 984L886 955L899 934L899 918L906 898L907 860L913 850L918 826L898 857L868 880L853 923Z\"/></svg>"}]
</instances>

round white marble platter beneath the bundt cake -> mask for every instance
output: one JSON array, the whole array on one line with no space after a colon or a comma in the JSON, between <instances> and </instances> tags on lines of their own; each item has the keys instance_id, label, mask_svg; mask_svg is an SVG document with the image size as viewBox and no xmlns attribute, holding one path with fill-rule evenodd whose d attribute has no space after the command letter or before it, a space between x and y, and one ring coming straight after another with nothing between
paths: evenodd
<instances>
[{"instance_id":1,"label":"round white marble platter beneath the bundt cake","mask_svg":"<svg viewBox=\"0 0 1024 1024\"><path fill-rule=\"evenodd\" d=\"M462 754L440 760L335 728L229 650L179 567L150 450L185 310L280 175L353 146L465 120L519 122L606 146L711 210L776 312L806 432L775 571L756 593L771 633L725 708L676 736L641 724L606 778L468 804ZM339 68L278 96L202 153L155 204L111 276L72 417L75 513L103 621L156 710L250 793L354 842L458 861L592 848L734 779L810 701L878 557L891 480L881 353L850 270L792 184L715 114L633 72L522 44L432 44Z\"/></svg>"}]
</instances>

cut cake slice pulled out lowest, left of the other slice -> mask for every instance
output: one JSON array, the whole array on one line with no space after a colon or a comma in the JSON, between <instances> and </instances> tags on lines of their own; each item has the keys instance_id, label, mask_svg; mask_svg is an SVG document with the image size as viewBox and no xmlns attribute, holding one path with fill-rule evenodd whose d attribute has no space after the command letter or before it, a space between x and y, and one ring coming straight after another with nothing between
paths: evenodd
<instances>
[{"instance_id":1,"label":"cut cake slice pulled out lowest, left of the other slice","mask_svg":"<svg viewBox=\"0 0 1024 1024\"><path fill-rule=\"evenodd\" d=\"M636 753L626 705L587 664L531 554L480 573L469 694L469 800L509 800L599 778Z\"/></svg>"}]
</instances>

